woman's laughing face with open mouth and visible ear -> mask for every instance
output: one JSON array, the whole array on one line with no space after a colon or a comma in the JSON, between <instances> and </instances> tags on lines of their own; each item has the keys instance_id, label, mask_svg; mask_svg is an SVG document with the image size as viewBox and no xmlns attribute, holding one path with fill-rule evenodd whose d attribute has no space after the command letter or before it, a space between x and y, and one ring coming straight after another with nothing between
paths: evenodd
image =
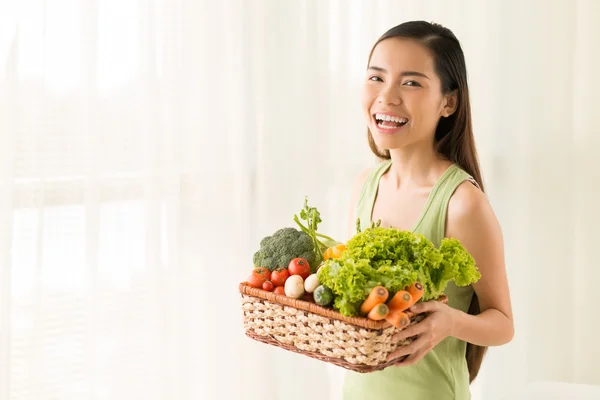
<instances>
[{"instance_id":1,"label":"woman's laughing face with open mouth and visible ear","mask_svg":"<svg viewBox=\"0 0 600 400\"><path fill-rule=\"evenodd\" d=\"M383 150L433 144L440 117L450 115L455 103L442 94L429 51L405 38L375 47L362 98L369 130Z\"/></svg>"}]
</instances>

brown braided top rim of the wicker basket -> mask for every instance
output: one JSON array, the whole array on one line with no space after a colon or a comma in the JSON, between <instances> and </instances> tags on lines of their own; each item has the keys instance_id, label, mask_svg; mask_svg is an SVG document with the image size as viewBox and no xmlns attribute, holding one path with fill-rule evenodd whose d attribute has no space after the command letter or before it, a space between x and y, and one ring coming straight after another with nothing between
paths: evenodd
<instances>
[{"instance_id":1,"label":"brown braided top rim of the wicker basket","mask_svg":"<svg viewBox=\"0 0 600 400\"><path fill-rule=\"evenodd\" d=\"M257 288L254 288L254 287L248 285L246 282L241 282L239 284L239 291L241 294L258 297L258 298L261 298L264 300L268 300L272 303L277 303L277 304L281 304L281 305L285 305L285 306L294 307L294 308L297 308L300 310L309 311L314 314L321 315L323 317L336 319L338 321L346 322L346 323L352 324L352 325L357 325L357 326L360 326L360 327L366 328L366 329L381 330L381 329L385 329L385 328L389 328L389 327L393 326L386 320L373 321L366 317L346 317L346 316L342 315L341 313L339 313L338 311L322 307L316 303L306 301L306 300L293 299L291 297L287 297L284 295L275 294L273 292L268 292L268 291L262 290L262 289L257 289ZM442 295L441 297L436 299L436 301L441 301L443 303L447 303L448 297L446 295ZM408 311L408 310L405 311L405 313L409 318L412 318L413 316L416 315L415 313Z\"/></svg>"}]
</instances>

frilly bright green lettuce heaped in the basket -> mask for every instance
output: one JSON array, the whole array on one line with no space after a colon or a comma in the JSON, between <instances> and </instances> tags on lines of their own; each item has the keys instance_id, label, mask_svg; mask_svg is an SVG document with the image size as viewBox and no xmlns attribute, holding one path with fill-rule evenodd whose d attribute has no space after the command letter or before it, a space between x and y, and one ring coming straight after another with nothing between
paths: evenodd
<instances>
[{"instance_id":1,"label":"frilly bright green lettuce heaped in the basket","mask_svg":"<svg viewBox=\"0 0 600 400\"><path fill-rule=\"evenodd\" d=\"M360 305L375 286L393 296L416 281L423 284L421 301L440 297L450 281L470 285L481 277L473 257L456 239L436 248L425 236L395 228L371 227L356 234L340 259L329 259L317 272L331 288L334 308L342 315L359 314Z\"/></svg>"}]
</instances>

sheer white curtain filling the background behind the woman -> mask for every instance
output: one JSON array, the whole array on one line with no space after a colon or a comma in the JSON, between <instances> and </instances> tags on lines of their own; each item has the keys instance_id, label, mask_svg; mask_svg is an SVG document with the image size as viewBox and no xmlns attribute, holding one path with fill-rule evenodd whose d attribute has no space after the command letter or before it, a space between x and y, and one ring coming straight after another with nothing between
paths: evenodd
<instances>
[{"instance_id":1,"label":"sheer white curtain filling the background behind the woman","mask_svg":"<svg viewBox=\"0 0 600 400\"><path fill-rule=\"evenodd\" d=\"M388 28L451 28L503 227L516 336L474 399L600 385L600 3L0 2L0 399L335 399L256 343L237 284L307 195L346 239Z\"/></svg>"}]
</instances>

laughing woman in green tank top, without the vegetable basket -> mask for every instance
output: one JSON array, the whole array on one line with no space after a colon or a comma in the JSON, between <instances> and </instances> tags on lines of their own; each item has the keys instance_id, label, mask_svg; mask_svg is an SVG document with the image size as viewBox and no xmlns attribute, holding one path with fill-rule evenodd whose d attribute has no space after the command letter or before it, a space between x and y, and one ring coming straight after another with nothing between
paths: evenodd
<instances>
[{"instance_id":1,"label":"laughing woman in green tank top, without the vegetable basket","mask_svg":"<svg viewBox=\"0 0 600 400\"><path fill-rule=\"evenodd\" d=\"M436 246L455 237L473 255L481 279L450 284L448 305L427 313L395 340L416 336L383 371L349 372L344 399L469 399L487 346L508 343L513 320L502 233L484 192L473 139L464 55L454 34L413 21L385 33L369 56L363 108L369 145L382 159L359 177L356 218L425 235Z\"/></svg>"}]
</instances>

